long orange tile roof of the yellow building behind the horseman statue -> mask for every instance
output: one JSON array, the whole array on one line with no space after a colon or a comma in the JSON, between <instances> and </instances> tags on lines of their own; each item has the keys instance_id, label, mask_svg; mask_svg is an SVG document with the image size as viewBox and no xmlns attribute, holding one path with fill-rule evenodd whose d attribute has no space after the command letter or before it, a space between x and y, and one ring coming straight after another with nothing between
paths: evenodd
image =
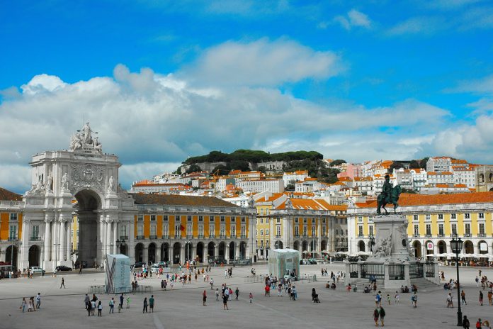
<instances>
[{"instance_id":1,"label":"long orange tile roof of the yellow building behind the horseman statue","mask_svg":"<svg viewBox=\"0 0 493 329\"><path fill-rule=\"evenodd\" d=\"M401 194L399 206L428 206L437 204L488 203L493 202L493 192L457 193L457 194ZM377 201L356 203L358 208L376 208Z\"/></svg>"}]
</instances>

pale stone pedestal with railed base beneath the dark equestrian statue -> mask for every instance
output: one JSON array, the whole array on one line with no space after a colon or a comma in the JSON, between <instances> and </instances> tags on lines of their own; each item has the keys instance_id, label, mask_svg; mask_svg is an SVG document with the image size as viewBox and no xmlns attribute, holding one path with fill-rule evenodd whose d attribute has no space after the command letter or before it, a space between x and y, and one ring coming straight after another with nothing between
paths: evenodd
<instances>
[{"instance_id":1,"label":"pale stone pedestal with railed base beneath the dark equestrian statue","mask_svg":"<svg viewBox=\"0 0 493 329\"><path fill-rule=\"evenodd\" d=\"M407 239L406 216L387 215L374 219L375 245L373 255L365 262L346 262L345 283L357 284L363 289L370 284L370 279L377 280L378 289L399 289L401 286L411 288L424 281L439 284L438 263L419 262L412 255Z\"/></svg>"}]
</instances>

